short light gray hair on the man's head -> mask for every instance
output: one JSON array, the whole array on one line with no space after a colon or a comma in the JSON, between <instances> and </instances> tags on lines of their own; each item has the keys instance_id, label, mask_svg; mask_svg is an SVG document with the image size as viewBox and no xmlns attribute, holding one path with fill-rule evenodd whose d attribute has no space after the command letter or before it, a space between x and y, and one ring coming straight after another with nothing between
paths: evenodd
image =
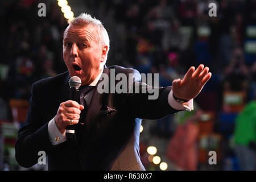
<instances>
[{"instance_id":1,"label":"short light gray hair on the man's head","mask_svg":"<svg viewBox=\"0 0 256 182\"><path fill-rule=\"evenodd\" d=\"M110 42L109 35L100 20L96 19L95 17L92 18L92 16L87 13L82 13L79 16L77 16L76 18L69 19L68 24L69 24L69 26L71 26L71 25L73 25L73 26L92 25L92 26L96 27L97 28L96 42L103 46L105 46L105 45L108 46L108 52L109 52L109 46L110 46L109 45L109 42ZM107 52L107 55L108 55L108 52Z\"/></svg>"}]
</instances>

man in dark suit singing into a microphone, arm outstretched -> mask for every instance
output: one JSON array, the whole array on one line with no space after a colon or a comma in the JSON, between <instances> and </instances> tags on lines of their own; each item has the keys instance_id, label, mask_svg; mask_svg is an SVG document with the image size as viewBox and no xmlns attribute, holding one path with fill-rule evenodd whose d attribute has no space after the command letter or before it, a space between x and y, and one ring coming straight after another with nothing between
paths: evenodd
<instances>
[{"instance_id":1,"label":"man in dark suit singing into a microphone, arm outstretched","mask_svg":"<svg viewBox=\"0 0 256 182\"><path fill-rule=\"evenodd\" d=\"M115 75L138 73L118 66L107 68L108 51L108 33L99 20L81 14L69 21L63 39L68 72L32 85L30 109L15 145L21 166L38 163L38 152L45 151L49 170L144 170L139 156L141 119L137 118L157 119L193 109L193 98L211 76L204 65L196 70L191 67L183 80L172 82L172 88L158 88L156 100L141 92L99 93L97 86L103 75L110 77L110 69ZM80 103L68 97L72 76L81 78ZM131 77L133 83L140 80ZM84 91L89 88L86 85L92 88L89 93ZM76 127L73 142L65 136L69 125Z\"/></svg>"}]
</instances>

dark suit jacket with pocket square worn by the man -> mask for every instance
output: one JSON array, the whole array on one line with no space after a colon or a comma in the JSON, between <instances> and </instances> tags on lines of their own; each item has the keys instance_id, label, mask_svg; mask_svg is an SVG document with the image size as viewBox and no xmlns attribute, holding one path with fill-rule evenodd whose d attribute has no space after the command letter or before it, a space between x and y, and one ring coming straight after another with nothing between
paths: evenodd
<instances>
[{"instance_id":1,"label":"dark suit jacket with pocket square worn by the man","mask_svg":"<svg viewBox=\"0 0 256 182\"><path fill-rule=\"evenodd\" d=\"M108 76L110 69L115 69L115 75L139 73L131 68L105 67ZM148 94L141 92L100 94L96 89L85 125L76 131L79 147L68 147L67 142L52 146L48 122L55 117L60 103L69 98L68 80L69 73L65 72L32 85L30 108L15 144L17 162L31 167L38 163L38 152L45 151L49 170L143 170L139 155L141 119L138 118L163 118L178 111L168 104L171 86L159 88L156 100L148 100Z\"/></svg>"}]
</instances>

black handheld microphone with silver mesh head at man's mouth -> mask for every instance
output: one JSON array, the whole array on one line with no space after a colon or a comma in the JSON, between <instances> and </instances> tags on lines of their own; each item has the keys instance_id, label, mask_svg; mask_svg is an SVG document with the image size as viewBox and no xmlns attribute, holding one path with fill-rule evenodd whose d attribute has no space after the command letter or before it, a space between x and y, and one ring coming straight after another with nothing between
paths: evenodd
<instances>
[{"instance_id":1,"label":"black handheld microphone with silver mesh head at man's mouth","mask_svg":"<svg viewBox=\"0 0 256 182\"><path fill-rule=\"evenodd\" d=\"M69 100L79 102L79 87L82 82L78 76L72 76L69 81ZM66 137L73 138L75 136L75 126L69 125L66 127Z\"/></svg>"}]
</instances>

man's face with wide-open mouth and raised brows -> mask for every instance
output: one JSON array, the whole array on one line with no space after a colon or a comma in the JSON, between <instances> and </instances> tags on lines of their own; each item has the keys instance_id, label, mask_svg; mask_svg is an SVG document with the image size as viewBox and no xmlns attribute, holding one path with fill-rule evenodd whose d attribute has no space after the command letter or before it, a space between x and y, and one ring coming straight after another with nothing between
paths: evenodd
<instances>
[{"instance_id":1,"label":"man's face with wide-open mouth and raised brows","mask_svg":"<svg viewBox=\"0 0 256 182\"><path fill-rule=\"evenodd\" d=\"M63 58L69 75L81 78L82 85L90 84L105 64L108 46L96 42L94 26L68 26L64 32Z\"/></svg>"}]
</instances>

